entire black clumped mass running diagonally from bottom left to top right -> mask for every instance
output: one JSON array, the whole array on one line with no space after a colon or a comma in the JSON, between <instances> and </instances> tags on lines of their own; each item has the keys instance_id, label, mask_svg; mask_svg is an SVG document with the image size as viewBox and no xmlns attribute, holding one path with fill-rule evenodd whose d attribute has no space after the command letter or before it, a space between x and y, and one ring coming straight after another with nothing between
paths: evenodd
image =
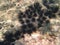
<instances>
[{"instance_id":1,"label":"entire black clumped mass running diagonally from bottom left to top right","mask_svg":"<svg viewBox=\"0 0 60 45\"><path fill-rule=\"evenodd\" d=\"M5 40L0 42L0 45L14 45L11 43L19 39L21 33L31 34L33 31L36 31L37 28L44 26L43 24L49 23L47 17L49 19L56 17L55 13L59 10L59 6L53 0L42 1L43 5L46 6L47 9L42 10L40 3L36 2L33 5L28 6L28 9L25 12L20 12L18 19L22 24L21 31L16 31L15 34L7 31L5 34Z\"/></svg>"}]
</instances>

